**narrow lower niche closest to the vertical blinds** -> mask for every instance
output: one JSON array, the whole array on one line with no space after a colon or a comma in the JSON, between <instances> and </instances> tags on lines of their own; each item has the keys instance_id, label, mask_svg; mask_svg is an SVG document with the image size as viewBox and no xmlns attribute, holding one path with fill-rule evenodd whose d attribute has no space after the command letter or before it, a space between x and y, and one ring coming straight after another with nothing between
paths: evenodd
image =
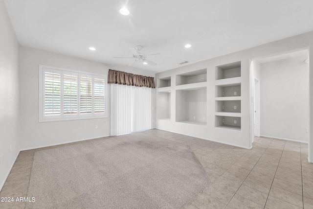
<instances>
[{"instance_id":1,"label":"narrow lower niche closest to the vertical blinds","mask_svg":"<svg viewBox=\"0 0 313 209\"><path fill-rule=\"evenodd\" d=\"M157 104L157 119L171 120L171 92L158 92Z\"/></svg>"}]
</instances>

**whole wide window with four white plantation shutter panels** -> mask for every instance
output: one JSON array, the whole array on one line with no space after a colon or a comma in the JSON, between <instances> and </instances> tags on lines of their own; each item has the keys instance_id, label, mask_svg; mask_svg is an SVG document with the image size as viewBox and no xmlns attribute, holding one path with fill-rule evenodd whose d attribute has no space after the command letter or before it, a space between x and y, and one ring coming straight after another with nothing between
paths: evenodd
<instances>
[{"instance_id":1,"label":"whole wide window with four white plantation shutter panels","mask_svg":"<svg viewBox=\"0 0 313 209\"><path fill-rule=\"evenodd\" d=\"M39 67L39 121L107 117L107 76Z\"/></svg>"}]
</instances>

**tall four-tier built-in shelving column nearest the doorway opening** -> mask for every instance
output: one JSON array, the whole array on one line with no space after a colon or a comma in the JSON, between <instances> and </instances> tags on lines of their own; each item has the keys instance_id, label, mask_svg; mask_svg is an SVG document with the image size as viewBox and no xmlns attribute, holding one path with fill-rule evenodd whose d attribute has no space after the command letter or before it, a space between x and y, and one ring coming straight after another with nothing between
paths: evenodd
<instances>
[{"instance_id":1,"label":"tall four-tier built-in shelving column nearest the doorway opening","mask_svg":"<svg viewBox=\"0 0 313 209\"><path fill-rule=\"evenodd\" d=\"M215 70L215 127L241 130L241 62Z\"/></svg>"}]
</instances>

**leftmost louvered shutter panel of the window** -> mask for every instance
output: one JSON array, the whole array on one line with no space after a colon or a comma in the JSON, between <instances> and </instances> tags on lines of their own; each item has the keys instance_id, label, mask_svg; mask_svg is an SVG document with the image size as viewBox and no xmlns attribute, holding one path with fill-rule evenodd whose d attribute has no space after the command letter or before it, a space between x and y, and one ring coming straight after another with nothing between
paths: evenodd
<instances>
[{"instance_id":1,"label":"leftmost louvered shutter panel of the window","mask_svg":"<svg viewBox=\"0 0 313 209\"><path fill-rule=\"evenodd\" d=\"M58 116L61 114L61 72L47 69L44 78L44 115Z\"/></svg>"}]
</instances>

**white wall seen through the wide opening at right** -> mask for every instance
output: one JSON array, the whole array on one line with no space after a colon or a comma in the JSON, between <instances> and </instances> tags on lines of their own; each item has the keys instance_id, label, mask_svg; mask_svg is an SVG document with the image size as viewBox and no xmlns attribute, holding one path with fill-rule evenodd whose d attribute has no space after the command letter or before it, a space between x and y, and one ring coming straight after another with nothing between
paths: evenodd
<instances>
[{"instance_id":1,"label":"white wall seen through the wide opening at right","mask_svg":"<svg viewBox=\"0 0 313 209\"><path fill-rule=\"evenodd\" d=\"M300 56L261 64L261 135L307 142L309 69Z\"/></svg>"}]
</instances>

